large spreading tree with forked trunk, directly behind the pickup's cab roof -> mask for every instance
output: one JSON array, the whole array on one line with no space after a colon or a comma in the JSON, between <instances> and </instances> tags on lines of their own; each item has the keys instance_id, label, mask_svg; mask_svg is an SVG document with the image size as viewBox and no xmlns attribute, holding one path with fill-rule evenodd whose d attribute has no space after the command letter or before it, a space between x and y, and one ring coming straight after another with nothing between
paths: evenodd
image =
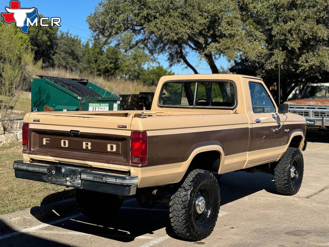
<instances>
[{"instance_id":1,"label":"large spreading tree with forked trunk, directly behind the pickup's cab roof","mask_svg":"<svg viewBox=\"0 0 329 247\"><path fill-rule=\"evenodd\" d=\"M142 45L150 55L168 55L169 66L183 63L197 73L186 58L193 50L218 73L215 59L229 60L244 51L250 57L262 52L253 37L254 27L244 26L237 0L106 0L88 16L98 36L120 40L133 35L130 47ZM255 41L256 40L256 41Z\"/></svg>"}]
</instances>

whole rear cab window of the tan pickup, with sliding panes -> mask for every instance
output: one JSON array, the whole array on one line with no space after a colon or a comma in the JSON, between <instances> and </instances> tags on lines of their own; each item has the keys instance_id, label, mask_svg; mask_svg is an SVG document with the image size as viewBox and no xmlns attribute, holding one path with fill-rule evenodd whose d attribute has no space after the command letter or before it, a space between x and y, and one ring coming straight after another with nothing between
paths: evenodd
<instances>
[{"instance_id":1,"label":"whole rear cab window of the tan pickup, with sliding panes","mask_svg":"<svg viewBox=\"0 0 329 247\"><path fill-rule=\"evenodd\" d=\"M236 87L232 81L165 82L159 106L234 108Z\"/></svg>"}]
</instances>

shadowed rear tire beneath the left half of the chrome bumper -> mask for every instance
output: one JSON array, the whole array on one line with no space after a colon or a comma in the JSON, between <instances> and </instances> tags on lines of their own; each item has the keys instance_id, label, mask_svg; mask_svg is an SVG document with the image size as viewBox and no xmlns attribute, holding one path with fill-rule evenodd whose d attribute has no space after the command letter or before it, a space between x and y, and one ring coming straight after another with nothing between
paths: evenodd
<instances>
[{"instance_id":1,"label":"shadowed rear tire beneath the left half of the chrome bumper","mask_svg":"<svg viewBox=\"0 0 329 247\"><path fill-rule=\"evenodd\" d=\"M95 220L109 220L119 210L124 198L109 193L75 189L75 200L85 216Z\"/></svg>"}]
</instances>

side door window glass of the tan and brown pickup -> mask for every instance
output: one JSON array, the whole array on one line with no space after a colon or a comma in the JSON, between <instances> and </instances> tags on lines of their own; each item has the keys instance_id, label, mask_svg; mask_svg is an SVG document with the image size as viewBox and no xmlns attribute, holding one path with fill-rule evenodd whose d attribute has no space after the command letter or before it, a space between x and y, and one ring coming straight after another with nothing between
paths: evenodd
<instances>
[{"instance_id":1,"label":"side door window glass of the tan and brown pickup","mask_svg":"<svg viewBox=\"0 0 329 247\"><path fill-rule=\"evenodd\" d=\"M253 113L275 112L275 107L261 83L249 82Z\"/></svg>"}]
</instances>

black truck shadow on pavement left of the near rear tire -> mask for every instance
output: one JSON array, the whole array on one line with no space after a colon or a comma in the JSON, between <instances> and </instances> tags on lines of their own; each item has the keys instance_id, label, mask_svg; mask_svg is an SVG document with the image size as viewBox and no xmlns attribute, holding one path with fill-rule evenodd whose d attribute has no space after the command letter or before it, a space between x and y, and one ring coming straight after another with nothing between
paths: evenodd
<instances>
[{"instance_id":1,"label":"black truck shadow on pavement left of the near rear tire","mask_svg":"<svg viewBox=\"0 0 329 247\"><path fill-rule=\"evenodd\" d=\"M158 204L155 208L145 209L140 208L137 201L132 201L131 198L128 200L119 212L113 214L111 221L96 221L81 214L53 226L66 229L67 232L91 234L121 242L131 242L138 236L153 234L154 231L167 226L169 211L166 205ZM32 210L31 213L33 214ZM38 219L37 215L34 216Z\"/></svg>"}]
</instances>

